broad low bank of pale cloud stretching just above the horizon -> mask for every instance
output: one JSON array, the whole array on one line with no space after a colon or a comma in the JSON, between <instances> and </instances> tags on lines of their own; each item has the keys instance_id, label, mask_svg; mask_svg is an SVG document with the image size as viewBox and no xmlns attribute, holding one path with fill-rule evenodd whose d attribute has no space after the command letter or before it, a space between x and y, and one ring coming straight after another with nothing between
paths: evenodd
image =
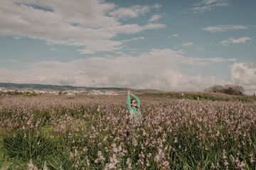
<instances>
[{"instance_id":1,"label":"broad low bank of pale cloud stretching just above the horizon","mask_svg":"<svg viewBox=\"0 0 256 170\"><path fill-rule=\"evenodd\" d=\"M223 58L194 58L184 52L153 49L138 57L88 57L71 62L26 63L18 72L0 68L0 81L72 86L119 86L166 91L200 91L220 84L214 77L188 76L178 70L181 64L206 66L228 62Z\"/></svg>"}]
</instances>

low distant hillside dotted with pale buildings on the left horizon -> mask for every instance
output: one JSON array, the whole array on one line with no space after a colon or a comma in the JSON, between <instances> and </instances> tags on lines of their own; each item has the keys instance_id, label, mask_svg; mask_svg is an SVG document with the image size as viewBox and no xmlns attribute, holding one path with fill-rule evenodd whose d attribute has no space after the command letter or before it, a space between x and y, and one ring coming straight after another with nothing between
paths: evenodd
<instances>
[{"instance_id":1,"label":"low distant hillside dotted with pale buildings on the left horizon","mask_svg":"<svg viewBox=\"0 0 256 170\"><path fill-rule=\"evenodd\" d=\"M0 89L2 90L40 90L40 91L92 91L92 90L107 90L107 91L127 91L128 88L118 87L85 87L85 86L58 86L58 85L46 85L46 84L14 84L14 83L0 83ZM132 89L137 92L145 91L159 91L154 89Z\"/></svg>"}]
</instances>

